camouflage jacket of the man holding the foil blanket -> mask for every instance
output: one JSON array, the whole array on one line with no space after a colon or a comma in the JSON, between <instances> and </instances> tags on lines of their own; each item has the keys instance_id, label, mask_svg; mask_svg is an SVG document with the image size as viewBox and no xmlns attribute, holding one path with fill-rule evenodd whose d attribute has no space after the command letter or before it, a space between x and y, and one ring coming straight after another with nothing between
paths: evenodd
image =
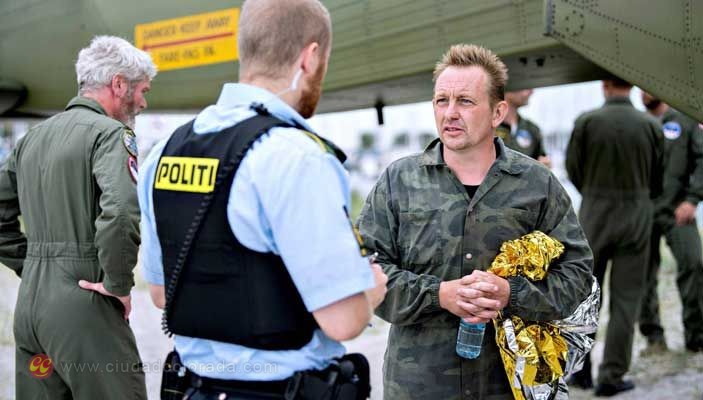
<instances>
[{"instance_id":1,"label":"camouflage jacket of the man holding the foil blanket","mask_svg":"<svg viewBox=\"0 0 703 400\"><path fill-rule=\"evenodd\" d=\"M444 163L439 139L391 164L359 219L379 253L388 293L376 313L392 323L386 399L508 399L494 330L481 356L455 353L459 318L439 305L439 284L487 269L503 242L539 229L566 251L540 282L510 278L505 311L530 320L567 316L590 292L592 254L561 184L538 162L495 139L497 160L473 198Z\"/></svg>"}]
</instances>

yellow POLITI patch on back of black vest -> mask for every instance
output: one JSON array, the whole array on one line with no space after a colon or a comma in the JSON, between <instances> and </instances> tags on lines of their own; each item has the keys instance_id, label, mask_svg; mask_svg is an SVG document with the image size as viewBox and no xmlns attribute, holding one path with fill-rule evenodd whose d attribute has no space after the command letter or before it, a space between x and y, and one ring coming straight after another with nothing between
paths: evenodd
<instances>
[{"instance_id":1,"label":"yellow POLITI patch on back of black vest","mask_svg":"<svg viewBox=\"0 0 703 400\"><path fill-rule=\"evenodd\" d=\"M154 188L178 192L210 193L220 160L200 157L161 157Z\"/></svg>"}]
</instances>

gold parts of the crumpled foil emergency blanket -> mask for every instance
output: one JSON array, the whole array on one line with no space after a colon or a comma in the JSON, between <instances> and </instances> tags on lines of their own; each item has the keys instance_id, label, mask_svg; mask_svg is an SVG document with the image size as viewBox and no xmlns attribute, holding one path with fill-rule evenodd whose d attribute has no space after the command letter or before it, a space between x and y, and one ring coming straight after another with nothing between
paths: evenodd
<instances>
[{"instance_id":1,"label":"gold parts of the crumpled foil emergency blanket","mask_svg":"<svg viewBox=\"0 0 703 400\"><path fill-rule=\"evenodd\" d=\"M488 272L502 278L520 275L538 281L544 279L549 264L563 252L564 245L559 241L534 231L503 243ZM499 316L493 324L516 400L525 400L524 386L553 383L564 375L562 366L568 347L558 327L548 322L523 321L517 316Z\"/></svg>"}]
</instances>

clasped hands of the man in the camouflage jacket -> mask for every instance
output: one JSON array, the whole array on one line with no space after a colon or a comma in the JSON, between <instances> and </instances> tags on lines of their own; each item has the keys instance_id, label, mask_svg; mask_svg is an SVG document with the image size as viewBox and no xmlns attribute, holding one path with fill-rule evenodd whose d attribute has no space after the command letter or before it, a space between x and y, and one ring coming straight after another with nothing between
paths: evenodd
<instances>
[{"instance_id":1,"label":"clasped hands of the man in the camouflage jacket","mask_svg":"<svg viewBox=\"0 0 703 400\"><path fill-rule=\"evenodd\" d=\"M457 305L469 313L471 323L489 322L498 316L510 301L510 284L490 272L476 270L461 278Z\"/></svg>"}]
</instances>

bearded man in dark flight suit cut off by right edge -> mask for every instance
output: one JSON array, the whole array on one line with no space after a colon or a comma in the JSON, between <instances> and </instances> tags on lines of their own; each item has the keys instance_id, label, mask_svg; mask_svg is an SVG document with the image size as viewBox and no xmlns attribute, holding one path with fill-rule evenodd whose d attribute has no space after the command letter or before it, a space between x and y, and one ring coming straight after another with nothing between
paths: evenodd
<instances>
[{"instance_id":1,"label":"bearded man in dark flight suit cut off by right edge","mask_svg":"<svg viewBox=\"0 0 703 400\"><path fill-rule=\"evenodd\" d=\"M642 92L642 102L651 115L662 121L667 163L664 190L656 202L640 332L647 337L646 353L666 350L657 297L659 241L664 235L678 267L676 283L683 305L686 348L703 351L703 260L695 217L696 206L703 198L703 131L697 121L646 92Z\"/></svg>"}]
</instances>

